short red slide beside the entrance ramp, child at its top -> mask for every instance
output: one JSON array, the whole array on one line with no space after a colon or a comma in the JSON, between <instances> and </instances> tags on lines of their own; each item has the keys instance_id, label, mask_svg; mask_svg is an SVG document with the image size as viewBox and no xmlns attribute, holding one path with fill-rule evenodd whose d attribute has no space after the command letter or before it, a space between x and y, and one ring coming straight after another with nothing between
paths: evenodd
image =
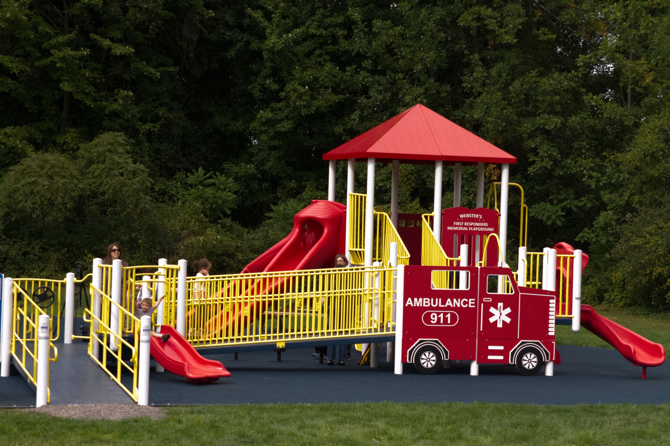
<instances>
[{"instance_id":1,"label":"short red slide beside the entrance ramp, child at its top","mask_svg":"<svg viewBox=\"0 0 670 446\"><path fill-rule=\"evenodd\" d=\"M160 338L151 336L151 356L165 370L185 376L188 382L194 383L212 382L230 376L223 364L200 356L172 326L161 326L161 334L170 334L170 339L163 343Z\"/></svg>"}]
</instances>

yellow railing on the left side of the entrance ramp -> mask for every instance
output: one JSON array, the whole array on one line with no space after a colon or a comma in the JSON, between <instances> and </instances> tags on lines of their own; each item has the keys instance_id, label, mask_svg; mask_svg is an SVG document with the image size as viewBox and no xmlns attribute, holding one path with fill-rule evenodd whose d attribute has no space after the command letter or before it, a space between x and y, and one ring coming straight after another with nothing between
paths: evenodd
<instances>
[{"instance_id":1,"label":"yellow railing on the left side of the entrance ramp","mask_svg":"<svg viewBox=\"0 0 670 446\"><path fill-rule=\"evenodd\" d=\"M23 374L27 378L29 384L37 386L38 376L38 324L40 315L47 314L40 305L32 299L32 296L25 292L24 288L17 285L21 281L40 281L37 279L21 279L16 280L13 286L13 315L12 315L12 336L10 343L11 356L13 356L15 364L21 368ZM41 281L41 282L58 282L58 281ZM23 282L25 285L25 282ZM60 308L60 307L59 307ZM58 314L58 313L56 313ZM51 336L54 334L53 318L50 316L49 332ZM56 336L58 338L58 336ZM58 348L52 342L54 338L49 341L49 360L58 360ZM51 357L51 349L54 350L54 357ZM51 393L48 387L47 378L47 402L50 401Z\"/></svg>"}]
</instances>

